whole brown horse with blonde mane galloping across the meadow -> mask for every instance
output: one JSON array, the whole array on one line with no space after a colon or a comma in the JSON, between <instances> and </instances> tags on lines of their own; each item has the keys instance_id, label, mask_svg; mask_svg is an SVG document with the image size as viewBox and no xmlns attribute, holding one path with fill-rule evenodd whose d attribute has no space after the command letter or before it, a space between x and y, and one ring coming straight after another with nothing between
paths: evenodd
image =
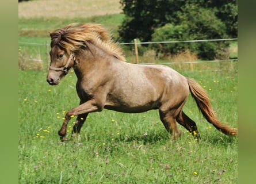
<instances>
[{"instance_id":1,"label":"whole brown horse with blonde mane galloping across the meadow","mask_svg":"<svg viewBox=\"0 0 256 184\"><path fill-rule=\"evenodd\" d=\"M220 132L236 136L237 128L220 122L206 91L192 78L186 78L160 64L132 64L125 60L121 47L100 24L72 23L50 32L51 63L49 85L73 68L77 76L79 106L68 110L58 134L66 139L68 121L77 116L72 132L80 133L86 117L103 109L123 113L142 113L158 109L160 120L173 139L181 135L177 122L195 139L200 139L196 122L186 115L184 106L189 93L204 118Z\"/></svg>"}]
</instances>

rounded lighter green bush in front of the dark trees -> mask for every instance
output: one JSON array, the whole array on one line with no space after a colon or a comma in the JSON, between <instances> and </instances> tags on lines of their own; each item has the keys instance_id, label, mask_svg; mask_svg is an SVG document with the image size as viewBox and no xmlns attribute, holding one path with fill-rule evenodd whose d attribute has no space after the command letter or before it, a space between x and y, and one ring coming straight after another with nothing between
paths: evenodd
<instances>
[{"instance_id":1,"label":"rounded lighter green bush in front of the dark trees","mask_svg":"<svg viewBox=\"0 0 256 184\"><path fill-rule=\"evenodd\" d=\"M179 18L182 25L188 25L189 35L194 40L203 39L220 39L226 38L225 24L215 16L214 11L198 7L197 5L188 5L182 9L183 13L179 12ZM228 43L224 42L200 42L196 43L195 47L189 47L192 52L196 52L202 59L213 60L218 56L218 59L227 59L220 56L221 51L228 47ZM223 55L224 56L224 55Z\"/></svg>"}]
</instances>

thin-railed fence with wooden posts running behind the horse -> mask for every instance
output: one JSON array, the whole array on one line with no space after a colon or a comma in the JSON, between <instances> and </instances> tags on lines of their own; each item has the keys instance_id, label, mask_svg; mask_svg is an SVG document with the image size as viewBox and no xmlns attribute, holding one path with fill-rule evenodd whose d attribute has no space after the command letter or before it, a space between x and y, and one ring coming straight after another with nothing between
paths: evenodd
<instances>
[{"instance_id":1,"label":"thin-railed fence with wooden posts running behind the horse","mask_svg":"<svg viewBox=\"0 0 256 184\"><path fill-rule=\"evenodd\" d=\"M172 44L172 43L196 43L196 42L205 42L205 41L234 41L234 40L238 40L237 38L235 39L208 39L208 40L184 40L184 41L155 41L155 42L137 42L136 39L134 39L133 43L119 43L120 45L134 45L134 49L135 49L135 60L136 63L139 64L139 53L138 53L138 49L137 49L137 45L138 44ZM46 58L44 59L33 59L33 58L23 58L24 60L30 60L30 61L34 61L34 62L47 62L47 64L49 64L49 43L48 41L45 44L40 44L40 43L26 43L26 42L19 42L19 45L42 45L46 48ZM189 62L182 62L182 63L206 63L206 62L226 62L226 61L236 61L237 59L226 59L226 60L208 60L208 61L189 61ZM153 64L153 63L143 63L143 64ZM175 64L175 62L168 62L168 63L159 63L159 64Z\"/></svg>"}]
</instances>

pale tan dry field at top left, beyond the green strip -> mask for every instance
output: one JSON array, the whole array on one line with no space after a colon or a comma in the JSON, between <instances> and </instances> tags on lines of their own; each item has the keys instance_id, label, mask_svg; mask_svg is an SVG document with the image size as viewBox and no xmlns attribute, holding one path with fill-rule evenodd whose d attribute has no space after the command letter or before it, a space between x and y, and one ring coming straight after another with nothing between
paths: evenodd
<instances>
[{"instance_id":1,"label":"pale tan dry field at top left, beyond the green strip","mask_svg":"<svg viewBox=\"0 0 256 184\"><path fill-rule=\"evenodd\" d=\"M35 0L18 3L19 18L82 18L121 12L119 0Z\"/></svg>"}]
</instances>

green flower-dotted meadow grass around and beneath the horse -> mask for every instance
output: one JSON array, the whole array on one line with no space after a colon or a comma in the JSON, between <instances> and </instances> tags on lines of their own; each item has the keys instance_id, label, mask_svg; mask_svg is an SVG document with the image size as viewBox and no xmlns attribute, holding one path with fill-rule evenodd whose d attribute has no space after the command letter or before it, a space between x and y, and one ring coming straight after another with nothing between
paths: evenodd
<instances>
[{"instance_id":1,"label":"green flower-dotted meadow grass around and beneath the horse","mask_svg":"<svg viewBox=\"0 0 256 184\"><path fill-rule=\"evenodd\" d=\"M180 72L204 86L221 121L237 127L236 70ZM91 113L80 136L72 138L70 131L70 140L61 143L63 111L79 102L76 78L70 73L58 86L49 86L46 75L18 71L19 183L237 183L237 137L213 128L192 98L184 111L197 123L199 143L181 126L181 138L171 140L157 110Z\"/></svg>"}]
</instances>

